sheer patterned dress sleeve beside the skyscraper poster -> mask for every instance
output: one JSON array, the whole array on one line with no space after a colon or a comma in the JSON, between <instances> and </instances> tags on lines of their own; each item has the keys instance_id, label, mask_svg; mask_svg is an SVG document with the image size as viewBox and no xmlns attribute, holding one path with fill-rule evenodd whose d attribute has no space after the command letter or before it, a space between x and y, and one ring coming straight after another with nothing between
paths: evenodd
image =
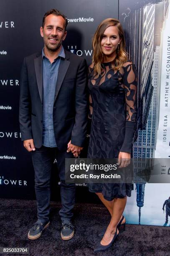
<instances>
[{"instance_id":1,"label":"sheer patterned dress sleeve beside the skyscraper poster","mask_svg":"<svg viewBox=\"0 0 170 256\"><path fill-rule=\"evenodd\" d=\"M131 153L137 117L137 71L131 61L126 62L123 66L123 83L126 100L126 124L124 143L120 151Z\"/></svg>"}]
</instances>

